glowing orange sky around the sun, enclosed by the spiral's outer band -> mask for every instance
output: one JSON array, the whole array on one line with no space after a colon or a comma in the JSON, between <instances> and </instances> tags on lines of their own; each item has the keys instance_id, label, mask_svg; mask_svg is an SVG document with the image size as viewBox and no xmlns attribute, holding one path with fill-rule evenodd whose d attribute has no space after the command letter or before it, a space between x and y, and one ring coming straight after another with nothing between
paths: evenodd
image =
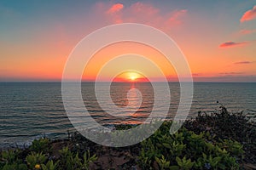
<instances>
[{"instance_id":1,"label":"glowing orange sky around the sun, enclosed by the spiral's outer band","mask_svg":"<svg viewBox=\"0 0 256 170\"><path fill-rule=\"evenodd\" d=\"M114 59L120 55L126 56L124 56L123 59L115 61ZM144 56L145 58L143 59L143 57L138 57L137 55ZM102 71L102 80L110 74L120 74L118 77L115 77L117 78L116 81L121 79L129 80L129 74L127 75L126 73L134 71L143 71L144 74L154 78L161 77L162 75L158 71L155 71L154 66L150 65L150 63L148 63L150 61L147 61L147 59L150 59L151 62L158 65L166 77L176 77L176 72L171 63L156 49L138 42L118 42L102 48L92 57L92 59L90 59L90 62L84 69L83 80L95 80L104 65L108 65L108 68L105 69L105 71ZM117 72L124 68L128 68L130 71Z\"/></svg>"}]
</instances>

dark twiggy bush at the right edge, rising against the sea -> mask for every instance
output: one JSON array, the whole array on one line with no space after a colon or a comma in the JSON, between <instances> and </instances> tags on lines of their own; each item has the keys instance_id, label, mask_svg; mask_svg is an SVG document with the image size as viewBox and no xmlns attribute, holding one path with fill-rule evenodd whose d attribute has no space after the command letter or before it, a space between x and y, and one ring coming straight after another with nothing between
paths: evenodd
<instances>
[{"instance_id":1,"label":"dark twiggy bush at the right edge, rising against the sea","mask_svg":"<svg viewBox=\"0 0 256 170\"><path fill-rule=\"evenodd\" d=\"M220 105L219 110L210 114L199 111L195 119L184 123L184 127L197 134L207 132L218 137L216 139L221 139L224 144L222 147L227 146L228 151L234 154L241 152L243 144L244 157L238 157L238 161L256 163L256 155L253 154L256 151L256 124L243 111L230 112L224 105ZM230 145L234 146L232 150Z\"/></svg>"}]
</instances>

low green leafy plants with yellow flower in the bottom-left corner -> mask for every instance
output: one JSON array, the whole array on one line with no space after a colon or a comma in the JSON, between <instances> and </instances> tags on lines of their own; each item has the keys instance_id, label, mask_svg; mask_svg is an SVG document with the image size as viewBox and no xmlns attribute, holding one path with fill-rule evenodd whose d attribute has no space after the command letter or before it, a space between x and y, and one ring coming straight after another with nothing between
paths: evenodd
<instances>
[{"instance_id":1,"label":"low green leafy plants with yellow flower in the bottom-left corner","mask_svg":"<svg viewBox=\"0 0 256 170\"><path fill-rule=\"evenodd\" d=\"M34 152L26 156L26 161L19 158L21 152L16 150L5 150L1 153L0 169L43 169L43 170L56 170L56 169L89 169L90 163L97 160L96 155L90 156L90 151L86 150L79 155L79 152L74 154L68 147L60 150L61 157L58 160L49 160L49 156L43 152Z\"/></svg>"}]
</instances>

